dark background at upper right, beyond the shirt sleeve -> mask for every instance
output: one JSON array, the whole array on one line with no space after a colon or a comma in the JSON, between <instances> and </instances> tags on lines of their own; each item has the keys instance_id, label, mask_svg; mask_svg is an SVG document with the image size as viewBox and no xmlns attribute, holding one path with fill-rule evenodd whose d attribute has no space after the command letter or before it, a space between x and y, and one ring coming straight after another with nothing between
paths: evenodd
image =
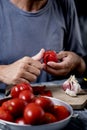
<instances>
[{"instance_id":1,"label":"dark background at upper right, beyond the shirt sleeve","mask_svg":"<svg viewBox=\"0 0 87 130\"><path fill-rule=\"evenodd\" d=\"M87 51L87 0L74 0L79 18L82 41Z\"/></svg>"}]
</instances>

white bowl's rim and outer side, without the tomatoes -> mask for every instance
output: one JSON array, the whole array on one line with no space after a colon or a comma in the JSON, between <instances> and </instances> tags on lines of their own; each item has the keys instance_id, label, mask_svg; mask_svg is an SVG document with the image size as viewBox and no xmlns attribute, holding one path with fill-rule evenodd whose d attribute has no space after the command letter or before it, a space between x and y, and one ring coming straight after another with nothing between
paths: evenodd
<instances>
[{"instance_id":1,"label":"white bowl's rim and outer side, without the tomatoes","mask_svg":"<svg viewBox=\"0 0 87 130\"><path fill-rule=\"evenodd\" d=\"M20 125L17 123L12 123L4 120L0 120L0 130L60 130L64 128L70 121L72 115L73 115L73 109L72 107L67 104L66 102L53 98L53 97L47 97L50 98L54 104L63 105L65 106L69 112L70 115L65 118L64 120L50 123L50 124L44 124L44 125L38 125L38 126L32 126L32 125Z\"/></svg>"}]
</instances>

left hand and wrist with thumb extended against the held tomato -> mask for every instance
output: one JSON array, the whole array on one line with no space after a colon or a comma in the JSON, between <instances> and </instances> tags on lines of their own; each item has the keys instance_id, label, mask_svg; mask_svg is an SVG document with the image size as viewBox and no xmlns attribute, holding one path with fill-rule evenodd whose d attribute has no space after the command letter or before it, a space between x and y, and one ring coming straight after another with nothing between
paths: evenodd
<instances>
[{"instance_id":1,"label":"left hand and wrist with thumb extended against the held tomato","mask_svg":"<svg viewBox=\"0 0 87 130\"><path fill-rule=\"evenodd\" d=\"M8 85L35 81L44 67L40 62L44 51L44 49L41 49L37 55L31 58L23 57L10 65L1 65L0 81Z\"/></svg>"}]
</instances>

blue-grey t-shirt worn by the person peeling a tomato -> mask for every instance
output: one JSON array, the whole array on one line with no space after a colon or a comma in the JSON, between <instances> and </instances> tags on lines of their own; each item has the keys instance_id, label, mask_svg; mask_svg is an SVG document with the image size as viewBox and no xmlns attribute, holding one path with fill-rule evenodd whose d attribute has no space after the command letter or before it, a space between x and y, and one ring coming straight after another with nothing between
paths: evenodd
<instances>
[{"instance_id":1,"label":"blue-grey t-shirt worn by the person peeling a tomato","mask_svg":"<svg viewBox=\"0 0 87 130\"><path fill-rule=\"evenodd\" d=\"M19 9L10 0L0 0L0 64L31 57L41 48L85 55L73 0L48 0L35 13ZM36 82L52 79L42 71Z\"/></svg>"}]
</instances>

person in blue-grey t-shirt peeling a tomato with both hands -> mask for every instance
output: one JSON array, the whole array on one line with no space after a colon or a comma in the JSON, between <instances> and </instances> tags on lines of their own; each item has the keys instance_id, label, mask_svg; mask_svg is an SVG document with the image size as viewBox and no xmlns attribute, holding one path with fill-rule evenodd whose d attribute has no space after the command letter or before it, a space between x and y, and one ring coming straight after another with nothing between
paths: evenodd
<instances>
[{"instance_id":1,"label":"person in blue-grey t-shirt peeling a tomato with both hands","mask_svg":"<svg viewBox=\"0 0 87 130\"><path fill-rule=\"evenodd\" d=\"M58 52L61 62L44 65L41 60L50 49ZM72 72L82 75L84 56L73 0L0 0L1 83L52 81Z\"/></svg>"}]
</instances>

